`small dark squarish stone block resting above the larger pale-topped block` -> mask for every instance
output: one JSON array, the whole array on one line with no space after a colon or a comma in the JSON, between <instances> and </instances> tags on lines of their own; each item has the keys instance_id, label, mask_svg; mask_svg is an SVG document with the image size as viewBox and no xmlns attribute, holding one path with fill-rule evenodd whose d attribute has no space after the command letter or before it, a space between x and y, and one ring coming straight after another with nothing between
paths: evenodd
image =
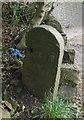
<instances>
[{"instance_id":1,"label":"small dark squarish stone block resting above the larger pale-topped block","mask_svg":"<svg viewBox=\"0 0 84 120\"><path fill-rule=\"evenodd\" d=\"M64 50L63 63L74 64L75 50L66 49Z\"/></svg>"}]
</instances>

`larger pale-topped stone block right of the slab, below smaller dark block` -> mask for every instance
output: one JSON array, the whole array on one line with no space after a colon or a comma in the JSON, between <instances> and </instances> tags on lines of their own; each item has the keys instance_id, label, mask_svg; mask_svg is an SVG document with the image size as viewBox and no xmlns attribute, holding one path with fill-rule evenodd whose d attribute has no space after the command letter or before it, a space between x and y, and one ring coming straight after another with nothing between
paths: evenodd
<instances>
[{"instance_id":1,"label":"larger pale-topped stone block right of the slab, below smaller dark block","mask_svg":"<svg viewBox=\"0 0 84 120\"><path fill-rule=\"evenodd\" d=\"M70 86L76 86L79 81L79 70L73 64L62 64L61 81Z\"/></svg>"}]
</instances>

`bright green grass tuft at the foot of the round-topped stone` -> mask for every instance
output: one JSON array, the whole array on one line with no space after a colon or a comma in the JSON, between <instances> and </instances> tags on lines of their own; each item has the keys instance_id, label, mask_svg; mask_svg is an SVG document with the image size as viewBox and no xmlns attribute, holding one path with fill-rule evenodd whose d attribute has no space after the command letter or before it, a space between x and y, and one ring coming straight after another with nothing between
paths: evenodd
<instances>
[{"instance_id":1,"label":"bright green grass tuft at the foot of the round-topped stone","mask_svg":"<svg viewBox=\"0 0 84 120\"><path fill-rule=\"evenodd\" d=\"M48 96L43 104L43 110L39 115L35 115L33 118L73 118L73 111L71 110L72 103L66 99L57 99L52 102L52 96Z\"/></svg>"}]
</instances>

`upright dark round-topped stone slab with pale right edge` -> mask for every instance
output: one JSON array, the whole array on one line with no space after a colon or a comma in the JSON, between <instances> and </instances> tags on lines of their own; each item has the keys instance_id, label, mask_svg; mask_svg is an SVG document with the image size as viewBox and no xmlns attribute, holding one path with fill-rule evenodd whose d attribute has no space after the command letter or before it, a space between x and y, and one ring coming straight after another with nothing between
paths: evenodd
<instances>
[{"instance_id":1,"label":"upright dark round-topped stone slab with pale right edge","mask_svg":"<svg viewBox=\"0 0 84 120\"><path fill-rule=\"evenodd\" d=\"M27 33L26 44L22 82L34 96L43 99L55 82L59 84L64 41L55 28L41 25Z\"/></svg>"}]
</instances>

